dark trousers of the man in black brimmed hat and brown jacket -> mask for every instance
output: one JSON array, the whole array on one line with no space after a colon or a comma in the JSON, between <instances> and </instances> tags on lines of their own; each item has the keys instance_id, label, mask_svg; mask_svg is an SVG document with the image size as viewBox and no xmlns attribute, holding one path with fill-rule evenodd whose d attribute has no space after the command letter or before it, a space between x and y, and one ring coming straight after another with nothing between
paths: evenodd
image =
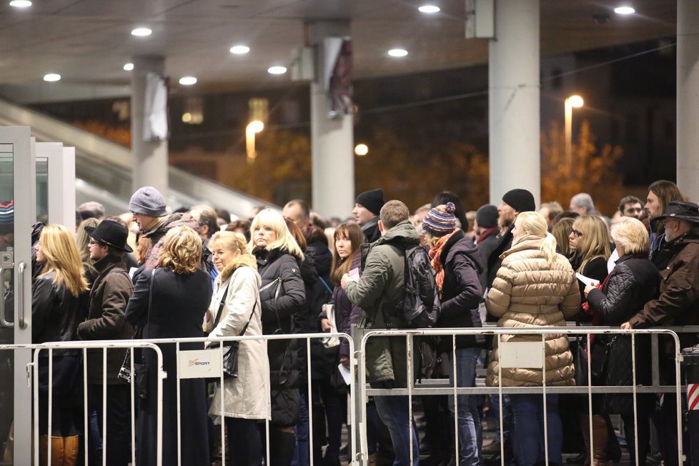
<instances>
[{"instance_id":1,"label":"dark trousers of the man in black brimmed hat and brown jacket","mask_svg":"<svg viewBox=\"0 0 699 466\"><path fill-rule=\"evenodd\" d=\"M104 385L89 384L87 386L88 407L97 412L97 427L102 438L102 452L106 455L107 466L127 466L131 462L131 387L120 384L107 385L106 412L102 405L103 388ZM91 434L91 431L89 432ZM89 445L94 445L94 442L89 442ZM90 451L89 454L91 465L101 465L99 450Z\"/></svg>"}]
</instances>

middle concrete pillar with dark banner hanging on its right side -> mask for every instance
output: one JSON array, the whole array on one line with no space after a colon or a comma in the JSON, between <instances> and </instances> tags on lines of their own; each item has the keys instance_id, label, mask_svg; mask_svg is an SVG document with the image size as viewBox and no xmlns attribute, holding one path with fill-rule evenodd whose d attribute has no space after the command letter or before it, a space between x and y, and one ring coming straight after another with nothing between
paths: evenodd
<instances>
[{"instance_id":1,"label":"middle concrete pillar with dark banner hanging on its right side","mask_svg":"<svg viewBox=\"0 0 699 466\"><path fill-rule=\"evenodd\" d=\"M317 21L309 26L317 47L316 79L311 83L311 207L324 217L344 218L355 202L354 131L352 115L328 117L323 39L349 36L350 22Z\"/></svg>"}]
</instances>

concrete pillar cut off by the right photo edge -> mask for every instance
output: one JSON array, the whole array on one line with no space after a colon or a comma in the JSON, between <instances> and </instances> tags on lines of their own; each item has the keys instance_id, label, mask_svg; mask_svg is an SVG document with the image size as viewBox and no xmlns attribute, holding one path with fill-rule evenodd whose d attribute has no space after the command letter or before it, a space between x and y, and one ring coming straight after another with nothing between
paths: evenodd
<instances>
[{"instance_id":1,"label":"concrete pillar cut off by the right photo edge","mask_svg":"<svg viewBox=\"0 0 699 466\"><path fill-rule=\"evenodd\" d=\"M699 2L677 2L677 185L699 202Z\"/></svg>"}]
</instances>

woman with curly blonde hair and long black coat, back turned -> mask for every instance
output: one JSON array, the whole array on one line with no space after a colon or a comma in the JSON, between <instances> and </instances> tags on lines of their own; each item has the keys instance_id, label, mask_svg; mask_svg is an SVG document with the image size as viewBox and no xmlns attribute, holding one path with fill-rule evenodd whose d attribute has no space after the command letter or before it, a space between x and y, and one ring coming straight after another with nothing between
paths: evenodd
<instances>
[{"instance_id":1,"label":"woman with curly blonde hair and long black coat, back turned","mask_svg":"<svg viewBox=\"0 0 699 466\"><path fill-rule=\"evenodd\" d=\"M202 238L189 227L165 234L157 267L142 272L129 299L126 316L144 339L203 337L202 322L212 297L211 278L199 269ZM138 332L138 330L137 330ZM160 344L167 379L162 393L162 458L177 465L177 353ZM180 350L203 350L203 343L181 344ZM149 367L149 394L139 400L136 457L139 465L155 464L157 447L157 359L152 351L134 352L134 361ZM207 400L203 379L180 381L182 464L211 465L207 433Z\"/></svg>"}]
</instances>

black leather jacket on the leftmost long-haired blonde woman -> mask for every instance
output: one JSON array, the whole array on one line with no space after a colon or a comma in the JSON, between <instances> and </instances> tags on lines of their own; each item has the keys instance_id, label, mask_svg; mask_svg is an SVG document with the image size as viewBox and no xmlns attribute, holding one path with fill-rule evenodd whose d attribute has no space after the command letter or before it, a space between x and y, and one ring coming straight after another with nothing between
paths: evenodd
<instances>
[{"instance_id":1,"label":"black leather jacket on the leftmost long-haired blonde woman","mask_svg":"<svg viewBox=\"0 0 699 466\"><path fill-rule=\"evenodd\" d=\"M78 324L87 317L88 292L74 297L54 283L56 272L38 277L31 286L31 342L70 342L78 339ZM48 354L47 352L43 352ZM79 355L81 350L55 350L54 355Z\"/></svg>"}]
</instances>

